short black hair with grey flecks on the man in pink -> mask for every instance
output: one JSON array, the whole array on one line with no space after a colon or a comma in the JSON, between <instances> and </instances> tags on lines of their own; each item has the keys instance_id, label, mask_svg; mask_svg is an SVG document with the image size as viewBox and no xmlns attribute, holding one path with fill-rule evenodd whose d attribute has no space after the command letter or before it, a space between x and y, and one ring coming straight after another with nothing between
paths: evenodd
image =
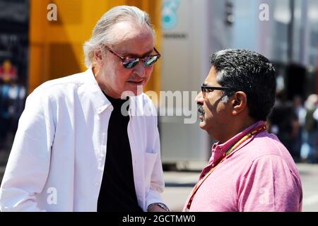
<instances>
[{"instance_id":1,"label":"short black hair with grey flecks on the man in pink","mask_svg":"<svg viewBox=\"0 0 318 226\"><path fill-rule=\"evenodd\" d=\"M216 69L216 80L231 88L224 93L231 97L235 91L247 95L249 116L266 121L275 102L276 76L271 61L247 49L225 49L212 54L211 65Z\"/></svg>"}]
</instances>

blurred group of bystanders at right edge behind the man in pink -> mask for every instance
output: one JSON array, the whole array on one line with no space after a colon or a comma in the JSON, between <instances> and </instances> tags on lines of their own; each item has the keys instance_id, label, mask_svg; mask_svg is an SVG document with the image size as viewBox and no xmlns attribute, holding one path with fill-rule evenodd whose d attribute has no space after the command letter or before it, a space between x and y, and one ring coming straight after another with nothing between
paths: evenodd
<instances>
[{"instance_id":1,"label":"blurred group of bystanders at right edge behind the man in pink","mask_svg":"<svg viewBox=\"0 0 318 226\"><path fill-rule=\"evenodd\" d=\"M305 100L296 95L287 99L278 92L269 116L269 131L275 133L290 151L295 162L318 162L318 95Z\"/></svg>"}]
</instances>

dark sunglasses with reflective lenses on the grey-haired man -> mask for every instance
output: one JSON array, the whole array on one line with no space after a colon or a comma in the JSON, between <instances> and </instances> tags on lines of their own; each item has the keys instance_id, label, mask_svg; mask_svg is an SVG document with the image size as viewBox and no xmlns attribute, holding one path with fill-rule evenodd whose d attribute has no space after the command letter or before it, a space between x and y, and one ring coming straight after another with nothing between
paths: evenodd
<instances>
[{"instance_id":1,"label":"dark sunglasses with reflective lenses on the grey-haired man","mask_svg":"<svg viewBox=\"0 0 318 226\"><path fill-rule=\"evenodd\" d=\"M109 52L114 54L122 61L122 66L125 69L132 69L134 66L138 64L139 61L143 61L143 66L150 67L153 66L153 64L155 64L155 62L158 61L158 59L161 57L161 54L158 52L157 49L155 49L155 47L153 47L153 49L157 54L148 57L121 57L119 56L119 54L110 49L110 47L105 47Z\"/></svg>"}]
</instances>

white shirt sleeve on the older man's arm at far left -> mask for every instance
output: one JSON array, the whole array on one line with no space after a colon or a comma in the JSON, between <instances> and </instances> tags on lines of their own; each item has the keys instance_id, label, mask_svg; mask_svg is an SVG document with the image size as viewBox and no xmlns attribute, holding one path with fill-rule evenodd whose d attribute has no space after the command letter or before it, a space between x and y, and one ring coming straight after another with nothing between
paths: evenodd
<instances>
[{"instance_id":1,"label":"white shirt sleeve on the older man's arm at far left","mask_svg":"<svg viewBox=\"0 0 318 226\"><path fill-rule=\"evenodd\" d=\"M41 211L36 195L47 180L54 138L52 108L43 93L28 97L20 117L1 184L1 211Z\"/></svg>"}]
</instances>

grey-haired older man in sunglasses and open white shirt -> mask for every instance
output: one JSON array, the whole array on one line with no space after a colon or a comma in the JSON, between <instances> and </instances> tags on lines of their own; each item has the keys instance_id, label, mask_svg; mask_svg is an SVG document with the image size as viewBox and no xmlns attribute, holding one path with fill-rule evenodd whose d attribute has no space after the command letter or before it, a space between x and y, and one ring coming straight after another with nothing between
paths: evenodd
<instances>
[{"instance_id":1,"label":"grey-haired older man in sunglasses and open white shirt","mask_svg":"<svg viewBox=\"0 0 318 226\"><path fill-rule=\"evenodd\" d=\"M88 70L30 94L1 211L168 211L157 117L143 111L155 112L142 92L160 58L154 40L146 12L114 7L84 44Z\"/></svg>"}]
</instances>

